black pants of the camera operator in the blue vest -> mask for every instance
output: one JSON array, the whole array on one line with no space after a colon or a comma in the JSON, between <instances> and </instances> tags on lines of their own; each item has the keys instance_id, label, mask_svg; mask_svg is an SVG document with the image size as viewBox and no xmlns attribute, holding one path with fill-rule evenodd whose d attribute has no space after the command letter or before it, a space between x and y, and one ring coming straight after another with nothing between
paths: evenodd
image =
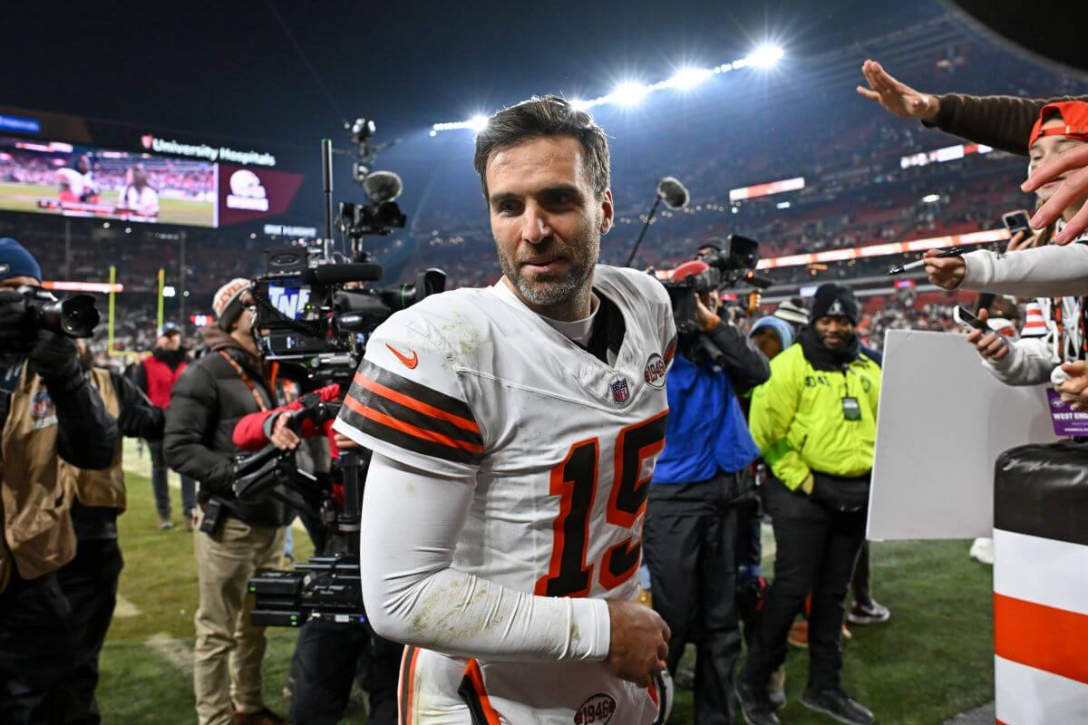
<instances>
[{"instance_id":1,"label":"black pants of the camera operator in the blue vest","mask_svg":"<svg viewBox=\"0 0 1088 725\"><path fill-rule=\"evenodd\" d=\"M654 609L672 632L669 672L676 674L684 646L695 642L695 722L734 718L733 670L741 651L737 613L738 477L654 485L650 489L643 550Z\"/></svg>"}]
</instances>

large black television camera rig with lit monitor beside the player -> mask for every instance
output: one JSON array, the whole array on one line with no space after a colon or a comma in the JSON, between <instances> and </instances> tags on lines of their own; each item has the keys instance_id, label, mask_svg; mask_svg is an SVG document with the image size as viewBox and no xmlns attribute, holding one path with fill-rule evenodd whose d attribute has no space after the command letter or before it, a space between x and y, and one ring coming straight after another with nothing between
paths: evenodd
<instances>
[{"instance_id":1,"label":"large black television camera rig with lit monitor beside the player","mask_svg":"<svg viewBox=\"0 0 1088 725\"><path fill-rule=\"evenodd\" d=\"M403 228L407 217L396 203L400 177L371 171L378 147L371 145L373 121L348 126L356 160L351 177L369 203L344 202L333 215L332 143L321 142L325 237L265 252L265 270L254 280L255 328L264 359L279 362L281 375L304 390L338 383L346 395L366 351L367 339L382 322L430 295L445 289L446 274L420 270L408 284L378 287L382 267L363 250L369 236ZM335 228L342 247L335 249ZM336 417L339 404L310 392L293 413L296 433L307 421L321 426ZM297 564L294 572L270 572L250 579L257 598L255 625L300 626L307 621L362 622L359 589L359 517L369 451L342 451L330 474L299 470L294 451L268 446L235 462L235 495L239 500L273 496L320 525L320 554ZM316 541L316 543L318 543ZM330 553L334 551L335 553Z\"/></svg>"}]
</instances>

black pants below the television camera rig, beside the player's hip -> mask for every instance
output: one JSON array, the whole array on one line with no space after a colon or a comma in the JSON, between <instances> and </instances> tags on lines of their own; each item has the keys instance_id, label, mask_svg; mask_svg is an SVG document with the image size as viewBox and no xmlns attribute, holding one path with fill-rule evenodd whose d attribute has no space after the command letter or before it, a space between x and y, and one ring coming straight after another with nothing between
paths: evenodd
<instances>
[{"instance_id":1,"label":"black pants below the television camera rig, beside the player's hip","mask_svg":"<svg viewBox=\"0 0 1088 725\"><path fill-rule=\"evenodd\" d=\"M397 674L404 647L374 634L369 624L307 622L292 660L294 696L287 718L307 725L336 725L351 695L356 663L369 654L366 689L373 725L396 725Z\"/></svg>"}]
</instances>

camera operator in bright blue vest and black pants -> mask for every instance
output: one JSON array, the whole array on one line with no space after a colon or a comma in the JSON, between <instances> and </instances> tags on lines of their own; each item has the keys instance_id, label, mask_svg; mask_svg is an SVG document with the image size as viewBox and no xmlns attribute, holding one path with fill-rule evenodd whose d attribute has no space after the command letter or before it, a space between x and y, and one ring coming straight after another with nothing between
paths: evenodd
<instances>
[{"instance_id":1,"label":"camera operator in bright blue vest and black pants","mask_svg":"<svg viewBox=\"0 0 1088 725\"><path fill-rule=\"evenodd\" d=\"M672 280L707 268L687 262ZM669 672L695 641L695 722L732 723L741 651L735 507L755 485L749 466L759 457L737 396L765 383L770 366L743 330L713 312L717 290L692 295L698 332L681 338L669 373L667 442L650 488L643 546L653 607L672 633Z\"/></svg>"}]
</instances>

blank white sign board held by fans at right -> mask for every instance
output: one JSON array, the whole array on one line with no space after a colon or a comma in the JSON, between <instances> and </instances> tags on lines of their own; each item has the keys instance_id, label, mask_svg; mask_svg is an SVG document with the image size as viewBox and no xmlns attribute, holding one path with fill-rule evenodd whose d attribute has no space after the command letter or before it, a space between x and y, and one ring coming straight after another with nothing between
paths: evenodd
<instances>
[{"instance_id":1,"label":"blank white sign board held by fans at right","mask_svg":"<svg viewBox=\"0 0 1088 725\"><path fill-rule=\"evenodd\" d=\"M885 338L870 539L992 536L993 464L1015 446L1058 438L1046 386L1013 387L962 335Z\"/></svg>"}]
</instances>

